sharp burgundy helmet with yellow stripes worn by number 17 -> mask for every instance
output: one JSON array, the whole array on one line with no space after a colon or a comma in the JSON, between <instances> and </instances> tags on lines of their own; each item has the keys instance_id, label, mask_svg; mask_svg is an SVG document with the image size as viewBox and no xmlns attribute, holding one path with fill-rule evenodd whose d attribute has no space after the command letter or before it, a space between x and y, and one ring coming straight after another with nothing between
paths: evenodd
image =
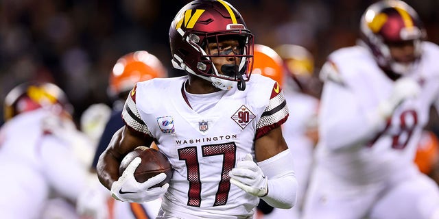
<instances>
[{"instance_id":1,"label":"sharp burgundy helmet with yellow stripes worn by number 17","mask_svg":"<svg viewBox=\"0 0 439 219\"><path fill-rule=\"evenodd\" d=\"M238 40L238 50L212 54L206 49L209 43L230 39ZM254 39L241 14L226 1L196 0L185 5L171 23L169 41L174 68L211 81L222 90L246 88L252 73ZM234 57L235 64L221 66L223 75L212 57Z\"/></svg>"}]
</instances>

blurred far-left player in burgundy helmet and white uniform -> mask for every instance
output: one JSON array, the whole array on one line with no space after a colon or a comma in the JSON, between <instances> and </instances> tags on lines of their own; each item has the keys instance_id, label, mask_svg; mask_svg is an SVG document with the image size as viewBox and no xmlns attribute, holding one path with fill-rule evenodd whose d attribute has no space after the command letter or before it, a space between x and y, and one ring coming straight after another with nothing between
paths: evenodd
<instances>
[{"instance_id":1,"label":"blurred far-left player in burgundy helmet and white uniform","mask_svg":"<svg viewBox=\"0 0 439 219\"><path fill-rule=\"evenodd\" d=\"M53 83L21 83L6 96L4 110L1 217L76 218L73 203L88 178L86 163L78 156L87 151L70 138L81 133L67 96ZM89 146L86 140L82 134L80 144Z\"/></svg>"}]
</instances>

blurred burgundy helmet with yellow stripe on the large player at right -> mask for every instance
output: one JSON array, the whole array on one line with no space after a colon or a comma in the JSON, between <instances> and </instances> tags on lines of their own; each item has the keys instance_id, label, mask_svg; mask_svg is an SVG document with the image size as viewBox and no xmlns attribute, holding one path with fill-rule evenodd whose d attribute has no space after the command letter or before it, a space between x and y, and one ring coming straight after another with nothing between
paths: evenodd
<instances>
[{"instance_id":1,"label":"blurred burgundy helmet with yellow stripe on the large player at right","mask_svg":"<svg viewBox=\"0 0 439 219\"><path fill-rule=\"evenodd\" d=\"M411 41L414 44L416 59L420 57L420 42L427 34L416 11L407 3L398 0L379 1L369 6L361 17L361 40L375 56L381 68L397 74L405 74L414 62L396 62L388 44Z\"/></svg>"}]
</instances>

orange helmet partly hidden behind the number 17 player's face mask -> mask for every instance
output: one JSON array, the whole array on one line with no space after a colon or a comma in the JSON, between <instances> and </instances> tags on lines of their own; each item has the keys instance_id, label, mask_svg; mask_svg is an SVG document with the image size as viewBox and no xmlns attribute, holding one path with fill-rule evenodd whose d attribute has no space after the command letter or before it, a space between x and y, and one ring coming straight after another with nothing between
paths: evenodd
<instances>
[{"instance_id":1,"label":"orange helmet partly hidden behind the number 17 player's face mask","mask_svg":"<svg viewBox=\"0 0 439 219\"><path fill-rule=\"evenodd\" d=\"M253 74L264 75L283 85L283 62L281 56L270 47L254 44Z\"/></svg>"}]
</instances>

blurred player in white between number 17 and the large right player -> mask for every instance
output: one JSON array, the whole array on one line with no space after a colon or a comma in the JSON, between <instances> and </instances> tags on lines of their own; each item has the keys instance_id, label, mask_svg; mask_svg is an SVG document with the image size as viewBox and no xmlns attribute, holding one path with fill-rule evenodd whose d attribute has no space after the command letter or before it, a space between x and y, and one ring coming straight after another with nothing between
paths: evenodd
<instances>
[{"instance_id":1,"label":"blurred player in white between number 17 and the large right player","mask_svg":"<svg viewBox=\"0 0 439 219\"><path fill-rule=\"evenodd\" d=\"M275 48L283 60L286 73L283 88L291 118L283 125L283 133L294 156L299 182L298 205L294 217L300 218L313 165L313 151L318 142L318 107L321 83L316 77L313 55L305 47L283 44ZM281 213L281 209L276 209ZM276 211L271 218L276 216Z\"/></svg>"}]
</instances>

